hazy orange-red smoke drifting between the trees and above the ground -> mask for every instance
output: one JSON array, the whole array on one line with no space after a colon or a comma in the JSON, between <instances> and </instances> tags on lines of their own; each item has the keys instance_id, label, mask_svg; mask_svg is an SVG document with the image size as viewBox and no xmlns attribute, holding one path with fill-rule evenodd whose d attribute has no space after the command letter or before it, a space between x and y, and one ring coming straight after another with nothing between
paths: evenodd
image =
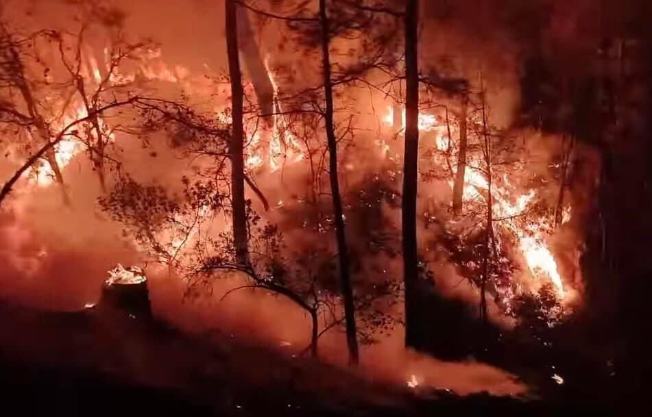
<instances>
[{"instance_id":1,"label":"hazy orange-red smoke drifting between the trees and above the ground","mask_svg":"<svg viewBox=\"0 0 652 417\"><path fill-rule=\"evenodd\" d=\"M528 175L545 176L553 156L559 151L559 136L551 134L542 137L529 129L521 132L514 127L522 110L522 55L532 48L532 38L538 35L520 38L520 34L515 33L516 29L511 26L518 16L522 16L523 20L518 28L533 23L544 2L532 5L533 11L520 7L522 1L487 1L481 5L471 1L455 3L450 5L453 10L446 17L442 17L441 10L430 11L426 8L421 32L422 40L427 40L422 42L424 72L441 71L443 75L468 79L474 90L484 88L492 123L498 129L513 131L515 134L518 132L527 137L529 153L539 155L538 163L529 164ZM536 21L533 30L538 29L544 39L551 39L546 45L568 45L564 42L577 34L577 21L588 3L590 2L583 2L577 9L568 5L568 2L565 8L558 4L559 9L555 9L555 13L564 14L566 19ZM53 27L66 27L74 21L75 9L72 6L64 7L58 2L48 1L22 5L23 8L13 9L16 21L34 19L38 22L47 16L47 25ZM224 70L226 48L222 41L223 18L219 2L159 1L156 2L156 10L147 2L115 1L113 5L128 10L122 21L125 32L134 38L153 38L161 45L162 60L168 66L183 66L193 75L204 74L208 71L206 68L211 73ZM267 29L265 33L269 31ZM101 31L98 33L96 36L106 36ZM276 37L270 36L265 40L263 45L269 49L278 43ZM581 49L582 42L590 43L584 38L564 49L568 52L564 55L568 60L566 66L572 63L572 47ZM280 49L276 50L279 51ZM297 65L290 52L280 51L279 60ZM282 62L277 64L281 65ZM309 73L302 73L301 81L311 80L310 68L309 65L300 66L301 71ZM380 94L370 94L368 90L352 92L351 99L357 103L357 108L372 110L359 110L356 115L356 123L365 126L365 131L356 134L354 147L350 150L347 148L347 152L350 152L346 155L348 164L343 164L346 170L346 190L360 186L370 175L378 172L378 166L383 163L381 152L377 156L371 152L376 153L378 150L378 136L382 130L378 118L389 103ZM455 98L442 101L455 108ZM424 135L424 143L428 144L428 140L432 140L431 136ZM400 148L400 139L388 137L387 142L392 147L389 153ZM129 173L142 184L160 185L175 192L182 186L182 175L193 172L193 166L181 160L162 137L150 138L147 147L143 147L136 138L119 136L116 147L115 152L121 157L123 172ZM578 153L590 160L586 166L596 166L586 156L589 151L580 150ZM49 188L23 188L12 201L14 209L3 212L0 217L0 269L3 270L0 298L45 309L80 309L84 304L99 299L101 282L112 266L117 263L143 264L142 254L132 242L123 237L122 225L112 222L98 209L97 197L101 192L97 185L97 175L87 160L86 155L77 155L64 170L71 192L70 208L62 207L57 187L53 185ZM577 174L580 176L577 184L590 181L591 175L588 172L591 170L592 168ZM11 172L4 167L1 171L3 175ZM287 166L282 173L257 180L272 205L285 205L288 201L300 199L307 194L309 187L304 166ZM422 190L423 197L435 196L439 202L450 199L450 186L444 181L422 188L425 188ZM581 291L581 277L570 271L579 270L575 253L581 250L581 243L578 243L582 240L583 229L581 207L585 207L590 199L590 196L580 194L581 189L585 187L573 186L570 193L570 205L574 210L578 208L578 216L555 237L553 243L555 254L561 254L559 263L564 277L572 277L572 285L578 291ZM258 199L250 197L258 211L263 213ZM426 198L420 199L420 207L426 211ZM381 215L387 227L400 225L398 212L385 203L381 204ZM281 210L272 210L263 213L263 216L271 223L284 220ZM422 230L420 234L428 236L428 233L430 232ZM323 236L315 238L302 229L288 231L289 242L296 246L309 247L321 238ZM350 239L356 244L361 238L351 236ZM437 256L434 258L432 268L436 271L437 290L451 298L461 299L470 306L478 305L478 290L466 282L460 284L463 278L455 267ZM386 262L385 275L400 275L398 258L383 258L383 262ZM564 272L564 269L568 272ZM186 296L188 286L182 278L168 275L167 270L155 270L154 267L148 270L148 275L156 315L186 331L217 331L266 346L278 346L278 349L289 353L300 351L309 344L309 317L289 301L263 290L239 290L222 299L229 290L244 282L238 277L217 277L210 286L210 291L207 289L206 295L191 299ZM375 278L369 277L370 280ZM400 309L397 312L400 313ZM500 325L514 325L498 312L498 307L494 304L490 305L490 313ZM422 385L450 388L461 394L482 390L495 394L513 394L524 390L522 384L506 372L472 359L452 363L418 355L405 351L402 340L402 331L396 330L391 336L382 338L378 344L363 349L361 372L369 377L401 384L414 375ZM344 345L343 335L338 329L326 333L320 340L322 357L344 364Z\"/></svg>"}]
</instances>

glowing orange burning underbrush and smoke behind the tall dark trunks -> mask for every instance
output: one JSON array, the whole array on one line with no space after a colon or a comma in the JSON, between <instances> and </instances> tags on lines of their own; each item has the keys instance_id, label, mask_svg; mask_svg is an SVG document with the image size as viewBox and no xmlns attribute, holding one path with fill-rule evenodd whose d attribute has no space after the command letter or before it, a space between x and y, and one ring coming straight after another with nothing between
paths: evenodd
<instances>
[{"instance_id":1,"label":"glowing orange burning underbrush and smoke behind the tall dark trunks","mask_svg":"<svg viewBox=\"0 0 652 417\"><path fill-rule=\"evenodd\" d=\"M49 111L34 116L36 127L19 129L19 145L10 145L17 167L34 149L51 146L16 171L3 194L12 191L0 225L0 265L12 271L3 296L40 307L93 305L110 270L107 286L146 282L154 316L186 330L219 328L280 346L289 357L312 353L342 364L345 316L323 97L315 88L293 91L288 80L295 75L269 56L260 64L270 103L263 103L255 79L245 81L250 253L241 262L230 222L233 110L226 77L208 65L199 73L167 62L152 42L113 34L97 49L82 34L52 32L27 45L60 61L45 71L45 91L37 91ZM38 60L32 64L40 68ZM62 79L74 82L61 88ZM398 113L404 110L400 100L390 103L389 94L359 85L336 90L361 372L409 388L524 392L513 375L475 359L455 364L402 349L405 115ZM587 197L575 192L587 188L594 168L578 173L574 164L588 152L574 138L494 125L492 108L504 104L487 99L482 82L457 94L424 95L418 123L424 292L463 300L465 320L479 318L499 331L563 323L582 303ZM36 112L29 94L23 96ZM263 114L265 105L271 114ZM56 270L62 262L64 274ZM117 262L137 266L110 269ZM64 294L43 296L34 290L39 286Z\"/></svg>"}]
</instances>

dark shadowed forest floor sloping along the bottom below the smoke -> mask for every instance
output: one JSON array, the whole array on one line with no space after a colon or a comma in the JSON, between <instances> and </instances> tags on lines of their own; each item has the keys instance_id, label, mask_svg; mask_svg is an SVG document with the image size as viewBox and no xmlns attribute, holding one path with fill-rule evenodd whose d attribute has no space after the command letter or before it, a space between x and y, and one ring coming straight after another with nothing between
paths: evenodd
<instances>
[{"instance_id":1,"label":"dark shadowed forest floor sloping along the bottom below the smoke","mask_svg":"<svg viewBox=\"0 0 652 417\"><path fill-rule=\"evenodd\" d=\"M49 416L549 415L544 401L372 383L156 320L0 303L0 404Z\"/></svg>"}]
</instances>

